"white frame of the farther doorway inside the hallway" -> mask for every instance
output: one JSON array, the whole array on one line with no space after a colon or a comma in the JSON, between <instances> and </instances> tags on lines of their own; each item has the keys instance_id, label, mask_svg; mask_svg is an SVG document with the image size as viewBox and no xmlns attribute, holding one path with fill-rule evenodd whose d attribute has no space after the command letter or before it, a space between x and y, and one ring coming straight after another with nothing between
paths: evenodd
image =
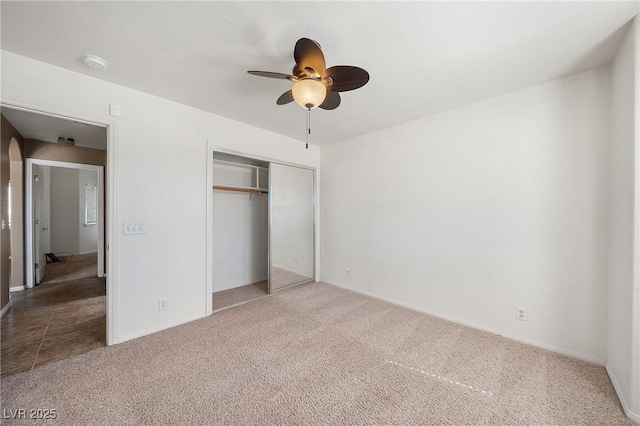
<instances>
[{"instance_id":1,"label":"white frame of the farther doorway inside the hallway","mask_svg":"<svg viewBox=\"0 0 640 426\"><path fill-rule=\"evenodd\" d=\"M76 169L76 170L89 170L95 171L98 174L98 277L104 277L104 167L94 166L89 164L69 163L64 161L53 160L41 160L37 158L27 158L25 167L25 199L24 199L24 212L25 212L25 255L26 255L26 286L27 288L33 288L35 285L34 274L35 266L33 259L33 236L34 236L34 223L33 223L33 166L44 167L60 167L64 169ZM51 224L49 229L51 229Z\"/></svg>"}]
</instances>

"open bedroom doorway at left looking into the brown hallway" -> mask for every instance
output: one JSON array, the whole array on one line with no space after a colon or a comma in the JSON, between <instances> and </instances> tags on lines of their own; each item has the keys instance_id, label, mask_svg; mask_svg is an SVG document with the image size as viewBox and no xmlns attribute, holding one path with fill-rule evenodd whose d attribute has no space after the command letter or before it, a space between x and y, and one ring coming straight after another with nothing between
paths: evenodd
<instances>
[{"instance_id":1,"label":"open bedroom doorway at left looking into the brown hallway","mask_svg":"<svg viewBox=\"0 0 640 426\"><path fill-rule=\"evenodd\" d=\"M21 286L12 284L11 309L2 317L4 376L76 356L115 339L110 314L114 306L106 301L111 283L105 270L109 265L106 231L112 229L107 227L105 206L113 192L106 194L104 180L104 169L113 170L107 164L107 157L112 158L107 155L107 145L113 143L110 125L7 105L2 105L2 115L22 135L24 144L24 192L16 191L21 202L15 204L24 206L20 234L25 259L22 288L26 287L20 291ZM92 131L101 135L100 147L82 144L83 135ZM64 134L66 138L60 137ZM64 145L60 139L67 146L59 146ZM69 146L69 139L79 143ZM74 181L75 186L61 196L52 187L55 181ZM75 194L73 202L68 201L69 193ZM52 209L61 210L62 215L52 215ZM56 217L67 225L57 236ZM71 234L75 243L60 243L59 237L68 240Z\"/></svg>"}]
</instances>

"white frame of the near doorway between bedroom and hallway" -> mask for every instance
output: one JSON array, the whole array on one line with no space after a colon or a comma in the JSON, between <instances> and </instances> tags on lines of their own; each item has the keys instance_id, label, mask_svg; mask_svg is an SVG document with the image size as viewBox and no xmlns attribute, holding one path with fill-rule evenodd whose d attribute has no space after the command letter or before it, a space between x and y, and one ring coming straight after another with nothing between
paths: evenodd
<instances>
[{"instance_id":1,"label":"white frame of the near doorway between bedroom and hallway","mask_svg":"<svg viewBox=\"0 0 640 426\"><path fill-rule=\"evenodd\" d=\"M43 107L42 105L34 105L16 100L1 99L0 106L2 108L17 109L24 112L30 112L34 114L47 115L49 117L56 117L63 120L76 121L79 123L85 123L92 126L104 127L107 131L107 164L104 167L104 173L106 174L106 182L103 188L106 190L106 197L104 198L105 204L105 218L103 220L105 226L105 237L103 248L105 250L106 257L106 289L107 289L107 346L118 343L118 280L117 280L117 267L115 265L114 257L112 253L116 250L118 241L116 239L116 169L117 169L117 155L116 155L116 135L118 133L117 120L109 120L104 118L96 118L92 116L83 116L76 113L70 113L63 110L55 110L51 108ZM26 162L26 158L25 158ZM103 175L104 176L104 175ZM25 182L26 185L26 182ZM26 194L25 194L26 195ZM25 231L27 229L25 221ZM26 251L26 250L25 250ZM25 253L26 254L26 253ZM26 260L25 260L26 261ZM26 277L25 277L26 278Z\"/></svg>"}]
</instances>

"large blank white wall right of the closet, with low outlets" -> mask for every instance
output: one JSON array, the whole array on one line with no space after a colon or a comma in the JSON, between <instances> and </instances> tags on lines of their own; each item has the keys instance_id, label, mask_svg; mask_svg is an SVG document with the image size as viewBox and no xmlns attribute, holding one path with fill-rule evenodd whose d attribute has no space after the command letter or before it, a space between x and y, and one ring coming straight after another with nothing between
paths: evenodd
<instances>
[{"instance_id":1,"label":"large blank white wall right of the closet, with low outlets","mask_svg":"<svg viewBox=\"0 0 640 426\"><path fill-rule=\"evenodd\" d=\"M323 281L604 363L609 77L323 147Z\"/></svg>"}]
</instances>

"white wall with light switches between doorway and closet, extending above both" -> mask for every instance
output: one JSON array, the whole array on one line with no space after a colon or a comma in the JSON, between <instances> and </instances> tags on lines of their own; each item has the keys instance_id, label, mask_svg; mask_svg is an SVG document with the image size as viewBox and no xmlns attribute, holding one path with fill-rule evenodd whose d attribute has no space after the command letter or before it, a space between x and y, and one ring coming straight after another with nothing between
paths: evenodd
<instances>
[{"instance_id":1,"label":"white wall with light switches between doorway and closet, extending above both","mask_svg":"<svg viewBox=\"0 0 640 426\"><path fill-rule=\"evenodd\" d=\"M106 171L107 190L115 191L107 284L114 343L206 315L207 139L319 167L316 146L305 150L299 141L6 51L2 101L114 124ZM109 115L109 104L121 107L120 117ZM144 223L145 234L123 235L125 222ZM167 310L158 310L160 298Z\"/></svg>"}]
</instances>

